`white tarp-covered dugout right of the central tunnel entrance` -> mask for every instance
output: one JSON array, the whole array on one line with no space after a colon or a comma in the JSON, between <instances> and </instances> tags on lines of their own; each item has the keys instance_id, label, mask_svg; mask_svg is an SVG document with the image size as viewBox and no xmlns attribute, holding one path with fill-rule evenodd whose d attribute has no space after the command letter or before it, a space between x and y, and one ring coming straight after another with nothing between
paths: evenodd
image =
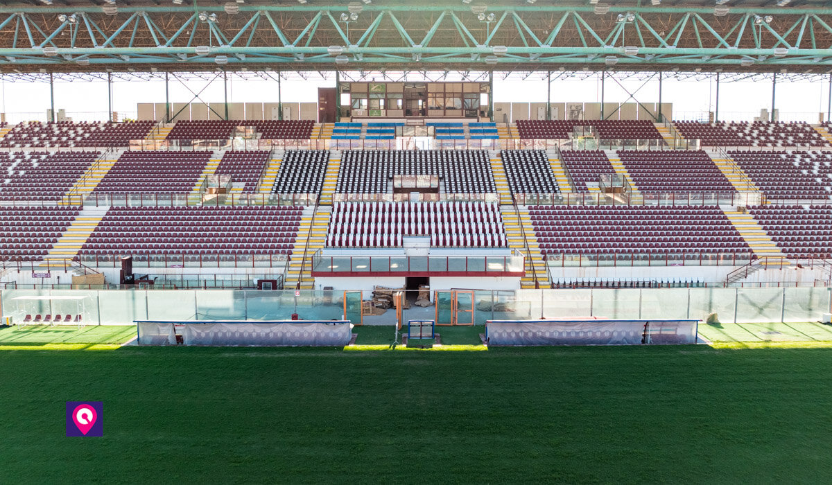
<instances>
[{"instance_id":1,"label":"white tarp-covered dugout right of the central tunnel entrance","mask_svg":"<svg viewBox=\"0 0 832 485\"><path fill-rule=\"evenodd\" d=\"M696 344L696 325L697 320L488 320L486 337L489 345Z\"/></svg>"}]
</instances>

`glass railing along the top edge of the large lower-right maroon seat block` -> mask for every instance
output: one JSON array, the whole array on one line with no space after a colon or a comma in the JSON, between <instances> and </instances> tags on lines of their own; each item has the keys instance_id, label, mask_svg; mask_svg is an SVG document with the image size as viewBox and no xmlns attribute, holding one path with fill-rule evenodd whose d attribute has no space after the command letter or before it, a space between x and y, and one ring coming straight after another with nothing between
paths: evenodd
<instances>
[{"instance_id":1,"label":"glass railing along the top edge of the large lower-right maroon seat block","mask_svg":"<svg viewBox=\"0 0 832 485\"><path fill-rule=\"evenodd\" d=\"M569 192L514 196L519 205L760 205L766 201L760 192Z\"/></svg>"}]
</instances>

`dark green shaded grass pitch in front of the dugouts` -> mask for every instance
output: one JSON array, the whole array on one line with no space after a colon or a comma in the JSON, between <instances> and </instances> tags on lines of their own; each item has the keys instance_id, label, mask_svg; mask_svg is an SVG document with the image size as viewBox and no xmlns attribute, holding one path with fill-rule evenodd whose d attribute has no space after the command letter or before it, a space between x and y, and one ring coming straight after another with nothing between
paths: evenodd
<instances>
[{"instance_id":1,"label":"dark green shaded grass pitch in front of the dugouts","mask_svg":"<svg viewBox=\"0 0 832 485\"><path fill-rule=\"evenodd\" d=\"M829 348L37 350L56 335L0 330L0 483L832 476ZM104 402L103 438L64 436L67 400Z\"/></svg>"}]
</instances>

